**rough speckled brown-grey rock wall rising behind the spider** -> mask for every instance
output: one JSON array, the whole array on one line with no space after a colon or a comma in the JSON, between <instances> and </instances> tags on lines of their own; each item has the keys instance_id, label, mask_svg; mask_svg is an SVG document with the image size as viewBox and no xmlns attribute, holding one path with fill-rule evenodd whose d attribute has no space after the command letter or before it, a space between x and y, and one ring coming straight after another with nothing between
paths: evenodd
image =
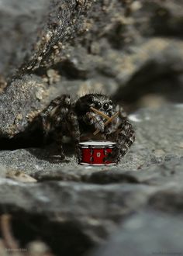
<instances>
[{"instance_id":1,"label":"rough speckled brown-grey rock wall rising behind the spider","mask_svg":"<svg viewBox=\"0 0 183 256\"><path fill-rule=\"evenodd\" d=\"M0 123L0 134L12 137L26 130L26 116L35 116L64 92L75 97L103 90L132 109L147 102L182 102L181 7L180 0L52 0L50 5L42 0L3 0L0 119L5 117L5 123ZM8 36L7 30L11 31ZM29 105L25 108L20 95L27 81ZM46 86L47 97L33 98L31 85L33 92ZM144 99L146 95L149 98ZM154 95L159 98L154 100ZM20 127L12 129L18 109Z\"/></svg>"}]
</instances>

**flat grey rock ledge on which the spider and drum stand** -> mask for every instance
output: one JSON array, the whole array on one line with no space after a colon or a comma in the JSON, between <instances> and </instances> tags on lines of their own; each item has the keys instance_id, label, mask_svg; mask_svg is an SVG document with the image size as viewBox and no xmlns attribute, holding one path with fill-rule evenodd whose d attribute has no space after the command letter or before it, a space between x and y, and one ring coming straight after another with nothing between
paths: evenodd
<instances>
[{"instance_id":1,"label":"flat grey rock ledge on which the spider and drum stand","mask_svg":"<svg viewBox=\"0 0 183 256\"><path fill-rule=\"evenodd\" d=\"M16 109L18 112L18 107ZM147 182L148 175L151 178L153 175L155 178L156 175L161 174L158 169L162 169L163 176L164 168L173 170L176 164L181 163L179 158L183 151L180 147L183 135L181 130L183 116L180 105L167 106L161 109L142 109L130 115L129 119L135 126L136 142L118 166L102 168L105 170L106 177L107 173L110 175L111 169L112 173L116 171L116 175L119 173L119 176L122 171L123 175L124 173L129 175L129 172L126 171L131 171L130 175L135 177L136 182ZM177 125L174 126L174 123ZM74 181L85 179L91 181L94 176L91 177L91 180L85 176L88 170L89 173L101 170L101 168L85 168L78 165L77 159L71 155L74 154L72 151L67 152L67 161L64 163L60 163L59 158L51 157L49 154L51 154L49 147L13 151L2 150L0 151L0 164L10 169L26 171L28 175L35 174L36 178L39 177L40 179L52 179L56 175L55 178L60 177L61 180L67 180L68 177L68 180L73 178ZM14 159L14 161L9 161L9 158ZM136 170L139 173L138 177L136 177L136 172L133 174L133 171ZM168 172L170 173L170 171ZM103 178L102 176L102 180Z\"/></svg>"}]
</instances>

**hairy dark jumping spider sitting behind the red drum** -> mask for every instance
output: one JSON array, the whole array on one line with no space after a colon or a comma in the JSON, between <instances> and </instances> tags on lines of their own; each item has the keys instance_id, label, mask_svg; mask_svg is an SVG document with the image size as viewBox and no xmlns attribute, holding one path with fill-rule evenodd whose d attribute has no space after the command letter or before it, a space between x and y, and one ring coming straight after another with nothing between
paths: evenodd
<instances>
[{"instance_id":1,"label":"hairy dark jumping spider sitting behind the red drum","mask_svg":"<svg viewBox=\"0 0 183 256\"><path fill-rule=\"evenodd\" d=\"M105 126L106 119L93 112L91 107L109 117L116 112L119 112L119 116ZM106 157L106 160L116 162L119 162L120 157L126 154L135 140L133 127L122 106L116 105L107 95L99 93L87 94L74 101L70 95L60 95L43 110L41 119L44 133L54 134L54 140L63 160L62 139L64 136L71 137L78 149L82 134L99 130L104 140L116 142L116 149Z\"/></svg>"}]
</instances>

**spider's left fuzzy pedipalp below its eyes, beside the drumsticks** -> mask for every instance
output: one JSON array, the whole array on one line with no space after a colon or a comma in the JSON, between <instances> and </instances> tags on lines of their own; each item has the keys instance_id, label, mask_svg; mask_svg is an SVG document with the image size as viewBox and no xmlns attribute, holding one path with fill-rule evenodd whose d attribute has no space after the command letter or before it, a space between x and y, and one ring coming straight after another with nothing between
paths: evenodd
<instances>
[{"instance_id":1,"label":"spider's left fuzzy pedipalp below its eyes, beside the drumsticks","mask_svg":"<svg viewBox=\"0 0 183 256\"><path fill-rule=\"evenodd\" d=\"M101 116L96 115L94 112L87 112L85 116L86 123L95 127L95 130L104 132L104 121Z\"/></svg>"}]
</instances>

